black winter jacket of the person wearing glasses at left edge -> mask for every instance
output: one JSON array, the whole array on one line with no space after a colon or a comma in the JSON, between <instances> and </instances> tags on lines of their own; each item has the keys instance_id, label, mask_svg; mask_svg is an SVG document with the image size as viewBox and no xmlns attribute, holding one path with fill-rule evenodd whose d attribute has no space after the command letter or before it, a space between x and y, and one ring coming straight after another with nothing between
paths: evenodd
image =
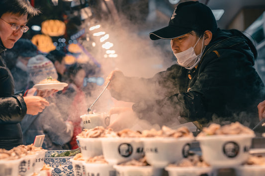
<instances>
[{"instance_id":1,"label":"black winter jacket of the person wearing glasses at left edge","mask_svg":"<svg viewBox=\"0 0 265 176\"><path fill-rule=\"evenodd\" d=\"M5 48L0 41L0 53ZM14 95L14 80L0 57L0 148L11 149L23 144L19 122L27 108L22 94Z\"/></svg>"}]
</instances>

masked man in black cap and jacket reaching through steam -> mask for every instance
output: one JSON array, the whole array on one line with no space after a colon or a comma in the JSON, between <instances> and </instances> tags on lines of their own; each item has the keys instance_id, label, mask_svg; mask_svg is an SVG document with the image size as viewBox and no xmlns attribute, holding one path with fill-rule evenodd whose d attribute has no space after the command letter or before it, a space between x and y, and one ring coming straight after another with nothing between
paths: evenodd
<instances>
[{"instance_id":1,"label":"masked man in black cap and jacket reaching through steam","mask_svg":"<svg viewBox=\"0 0 265 176\"><path fill-rule=\"evenodd\" d=\"M149 36L171 40L176 64L149 79L112 71L106 80L112 97L134 102L139 118L160 125L259 122L264 84L253 67L255 46L243 33L219 29L209 7L187 1L177 5L167 27Z\"/></svg>"}]
</instances>

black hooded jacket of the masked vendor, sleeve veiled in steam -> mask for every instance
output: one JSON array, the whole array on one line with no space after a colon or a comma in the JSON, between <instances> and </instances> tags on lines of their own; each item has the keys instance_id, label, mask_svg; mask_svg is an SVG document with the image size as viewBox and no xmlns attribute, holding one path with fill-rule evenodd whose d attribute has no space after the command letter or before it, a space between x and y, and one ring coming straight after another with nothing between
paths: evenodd
<instances>
[{"instance_id":1,"label":"black hooded jacket of the masked vendor, sleeve veiled in steam","mask_svg":"<svg viewBox=\"0 0 265 176\"><path fill-rule=\"evenodd\" d=\"M240 31L218 29L196 68L175 64L149 79L126 77L123 91L111 95L135 102L132 108L140 118L161 125L239 121L253 127L259 122L257 106L265 100L263 81L253 67L256 57L255 46Z\"/></svg>"}]
</instances>

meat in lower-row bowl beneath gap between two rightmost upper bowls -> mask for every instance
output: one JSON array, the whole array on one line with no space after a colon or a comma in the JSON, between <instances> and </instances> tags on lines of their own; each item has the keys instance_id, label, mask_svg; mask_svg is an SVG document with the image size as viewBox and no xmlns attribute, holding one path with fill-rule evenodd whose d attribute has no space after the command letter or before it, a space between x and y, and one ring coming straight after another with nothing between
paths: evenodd
<instances>
[{"instance_id":1,"label":"meat in lower-row bowl beneath gap between two rightmost upper bowls","mask_svg":"<svg viewBox=\"0 0 265 176\"><path fill-rule=\"evenodd\" d=\"M170 164L169 167L209 167L209 164L203 161L202 156L189 155L175 164Z\"/></svg>"}]
</instances>

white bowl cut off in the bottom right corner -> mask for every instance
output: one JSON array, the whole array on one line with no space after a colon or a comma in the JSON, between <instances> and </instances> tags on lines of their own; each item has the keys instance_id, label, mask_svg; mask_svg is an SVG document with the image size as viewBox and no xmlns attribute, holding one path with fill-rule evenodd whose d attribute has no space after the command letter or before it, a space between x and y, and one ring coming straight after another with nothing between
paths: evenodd
<instances>
[{"instance_id":1,"label":"white bowl cut off in the bottom right corner","mask_svg":"<svg viewBox=\"0 0 265 176\"><path fill-rule=\"evenodd\" d=\"M237 176L264 176L265 166L243 165L236 168Z\"/></svg>"}]
</instances>

